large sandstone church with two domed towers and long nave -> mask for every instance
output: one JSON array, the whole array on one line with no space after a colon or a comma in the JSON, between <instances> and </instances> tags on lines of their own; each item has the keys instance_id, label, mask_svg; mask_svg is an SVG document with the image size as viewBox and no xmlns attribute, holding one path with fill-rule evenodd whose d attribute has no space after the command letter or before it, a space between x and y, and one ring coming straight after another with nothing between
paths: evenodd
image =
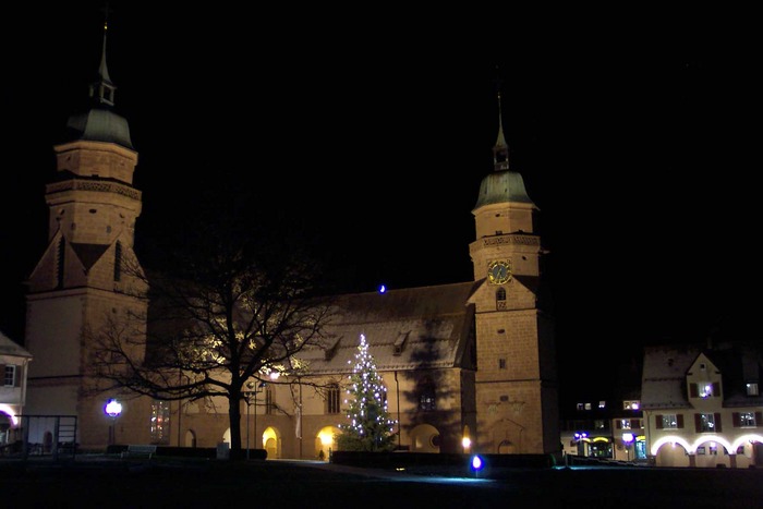
<instances>
[{"instance_id":1,"label":"large sandstone church with two domed towers and long nave","mask_svg":"<svg viewBox=\"0 0 763 509\"><path fill-rule=\"evenodd\" d=\"M105 48L106 40L94 105L70 120L71 138L55 147L59 179L46 190L49 245L27 294L26 344L36 356L31 411L77 415L83 449L113 441L214 447L230 436L227 400L142 397L123 401L119 416L109 416L104 408L110 395L87 398L80 391L92 348L88 331L128 312L146 312L128 291L137 281L121 270L136 263L141 193L132 185L137 153L128 123L112 111ZM560 455L554 322L544 312L537 207L522 177L509 169L500 122L494 162L472 210L474 280L340 295L329 330L335 343L301 354L311 379L252 381L250 400L242 402L249 445L266 448L270 458L326 457L346 421L348 360L364 334L387 384L391 416L400 420L401 449Z\"/></svg>"}]
</instances>

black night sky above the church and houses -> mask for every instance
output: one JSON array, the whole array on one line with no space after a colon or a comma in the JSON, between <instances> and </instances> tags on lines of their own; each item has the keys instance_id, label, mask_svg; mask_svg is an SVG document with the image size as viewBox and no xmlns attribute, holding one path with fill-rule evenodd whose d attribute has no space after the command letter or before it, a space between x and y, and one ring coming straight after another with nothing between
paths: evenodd
<instances>
[{"instance_id":1,"label":"black night sky above the church and houses","mask_svg":"<svg viewBox=\"0 0 763 509\"><path fill-rule=\"evenodd\" d=\"M100 57L98 2L76 3L12 8L0 36L0 330L20 341L52 145ZM565 364L610 368L714 327L753 334L760 57L717 12L606 24L491 13L457 29L395 12L347 23L111 3L138 249L193 228L199 206L239 199L253 220L312 237L347 291L470 280L498 75L511 166L541 208Z\"/></svg>"}]
</instances>

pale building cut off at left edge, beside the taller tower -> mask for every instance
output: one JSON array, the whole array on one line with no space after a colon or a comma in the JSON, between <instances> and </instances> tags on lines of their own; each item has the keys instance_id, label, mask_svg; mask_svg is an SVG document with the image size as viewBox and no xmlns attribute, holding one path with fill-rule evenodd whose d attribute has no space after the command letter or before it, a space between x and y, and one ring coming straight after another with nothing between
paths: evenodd
<instances>
[{"instance_id":1,"label":"pale building cut off at left edge, beside the taller tower","mask_svg":"<svg viewBox=\"0 0 763 509\"><path fill-rule=\"evenodd\" d=\"M0 332L0 451L21 440L21 415L26 404L26 376L32 354Z\"/></svg>"}]
</instances>

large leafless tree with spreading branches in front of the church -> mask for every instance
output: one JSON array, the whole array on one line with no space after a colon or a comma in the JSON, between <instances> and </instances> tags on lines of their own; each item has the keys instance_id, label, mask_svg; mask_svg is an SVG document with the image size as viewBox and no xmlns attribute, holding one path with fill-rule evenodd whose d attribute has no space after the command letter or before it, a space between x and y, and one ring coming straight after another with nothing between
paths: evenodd
<instances>
[{"instance_id":1,"label":"large leafless tree with spreading branches in front of the church","mask_svg":"<svg viewBox=\"0 0 763 509\"><path fill-rule=\"evenodd\" d=\"M304 256L220 231L199 231L191 241L198 243L173 257L171 275L146 278L149 290L136 298L148 299L147 316L118 314L92 332L90 390L167 401L223 397L230 457L241 459L245 384L301 373L295 354L323 344L331 307L314 295L316 267ZM137 265L124 270L145 277Z\"/></svg>"}]
</instances>

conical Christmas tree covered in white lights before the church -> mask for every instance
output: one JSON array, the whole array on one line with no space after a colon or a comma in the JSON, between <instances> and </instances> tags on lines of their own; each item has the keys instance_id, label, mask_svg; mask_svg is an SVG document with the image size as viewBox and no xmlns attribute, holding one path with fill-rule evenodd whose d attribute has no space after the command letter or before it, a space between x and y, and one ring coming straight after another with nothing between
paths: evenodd
<instances>
[{"instance_id":1,"label":"conical Christmas tree covered in white lights before the church","mask_svg":"<svg viewBox=\"0 0 763 509\"><path fill-rule=\"evenodd\" d=\"M348 361L352 363L352 361ZM368 343L361 335L355 354L355 365L350 375L347 416L350 424L340 424L342 433L337 437L340 450L386 451L395 448L395 424L387 412L387 389L376 371L374 357L368 353Z\"/></svg>"}]
</instances>

